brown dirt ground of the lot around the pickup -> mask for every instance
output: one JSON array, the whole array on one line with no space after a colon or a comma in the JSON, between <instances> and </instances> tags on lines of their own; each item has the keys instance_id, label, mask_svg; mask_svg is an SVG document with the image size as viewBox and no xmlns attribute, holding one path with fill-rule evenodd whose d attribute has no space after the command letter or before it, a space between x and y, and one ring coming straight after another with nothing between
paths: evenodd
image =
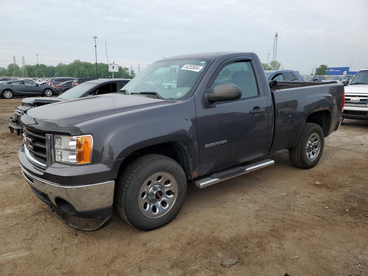
<instances>
[{"instance_id":1,"label":"brown dirt ground of the lot around the pickup","mask_svg":"<svg viewBox=\"0 0 368 276\"><path fill-rule=\"evenodd\" d=\"M368 275L368 121L345 120L313 169L280 151L266 169L203 190L190 184L161 229L115 215L86 233L61 223L23 179L21 137L7 129L20 103L0 99L1 276ZM226 268L224 259L238 262Z\"/></svg>"}]
</instances>

